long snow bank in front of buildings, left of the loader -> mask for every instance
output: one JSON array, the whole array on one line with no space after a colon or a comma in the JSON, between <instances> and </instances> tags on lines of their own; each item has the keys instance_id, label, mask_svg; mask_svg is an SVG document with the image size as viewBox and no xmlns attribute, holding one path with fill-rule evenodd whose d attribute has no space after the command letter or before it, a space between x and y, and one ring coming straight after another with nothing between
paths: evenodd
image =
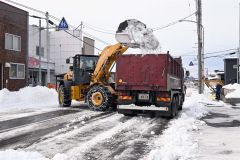
<instances>
[{"instance_id":1,"label":"long snow bank in front of buildings, left of the loader","mask_svg":"<svg viewBox=\"0 0 240 160\"><path fill-rule=\"evenodd\" d=\"M19 91L0 90L0 112L12 109L58 106L57 92L47 87L25 87Z\"/></svg>"}]
</instances>

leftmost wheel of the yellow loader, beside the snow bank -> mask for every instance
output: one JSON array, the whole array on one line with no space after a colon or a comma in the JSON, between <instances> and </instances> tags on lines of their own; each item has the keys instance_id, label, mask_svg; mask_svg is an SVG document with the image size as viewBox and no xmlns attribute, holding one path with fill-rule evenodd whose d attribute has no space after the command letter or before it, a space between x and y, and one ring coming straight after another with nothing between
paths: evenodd
<instances>
[{"instance_id":1,"label":"leftmost wheel of the yellow loader, beside the snow bank","mask_svg":"<svg viewBox=\"0 0 240 160\"><path fill-rule=\"evenodd\" d=\"M60 107L69 107L71 106L71 90L70 88L60 85L58 89L58 102Z\"/></svg>"}]
</instances>

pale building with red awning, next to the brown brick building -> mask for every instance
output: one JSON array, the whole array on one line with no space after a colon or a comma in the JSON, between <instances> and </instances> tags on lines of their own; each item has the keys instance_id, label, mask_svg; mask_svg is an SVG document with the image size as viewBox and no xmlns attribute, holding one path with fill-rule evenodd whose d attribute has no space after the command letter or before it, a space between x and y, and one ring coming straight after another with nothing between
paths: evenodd
<instances>
[{"instance_id":1,"label":"pale building with red awning, next to the brown brick building","mask_svg":"<svg viewBox=\"0 0 240 160\"><path fill-rule=\"evenodd\" d=\"M39 26L29 25L28 84L30 86L36 86L40 83L42 86L47 86L47 31L41 30L41 55L39 55L39 33ZM41 61L39 56L41 56ZM39 66L39 64L41 65ZM50 60L48 64L50 69L50 83L54 83L55 63ZM41 80L39 79L39 72Z\"/></svg>"}]
</instances>

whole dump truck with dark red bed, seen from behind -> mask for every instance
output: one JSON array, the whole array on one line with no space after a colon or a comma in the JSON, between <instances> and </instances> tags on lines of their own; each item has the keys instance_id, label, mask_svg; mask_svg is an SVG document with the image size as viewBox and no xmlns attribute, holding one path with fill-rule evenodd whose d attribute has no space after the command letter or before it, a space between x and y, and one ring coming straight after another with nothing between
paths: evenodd
<instances>
[{"instance_id":1,"label":"whole dump truck with dark red bed, seen from behind","mask_svg":"<svg viewBox=\"0 0 240 160\"><path fill-rule=\"evenodd\" d=\"M181 58L166 54L119 55L116 90L119 113L174 117L182 110L186 87Z\"/></svg>"}]
</instances>

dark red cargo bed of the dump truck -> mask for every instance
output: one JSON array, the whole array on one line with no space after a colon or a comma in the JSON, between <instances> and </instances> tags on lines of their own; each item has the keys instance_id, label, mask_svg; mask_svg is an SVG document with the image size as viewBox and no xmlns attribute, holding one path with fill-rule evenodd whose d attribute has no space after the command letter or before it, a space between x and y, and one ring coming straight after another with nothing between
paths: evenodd
<instances>
[{"instance_id":1,"label":"dark red cargo bed of the dump truck","mask_svg":"<svg viewBox=\"0 0 240 160\"><path fill-rule=\"evenodd\" d=\"M169 91L182 86L181 58L169 54L120 55L116 62L117 90Z\"/></svg>"}]
</instances>

